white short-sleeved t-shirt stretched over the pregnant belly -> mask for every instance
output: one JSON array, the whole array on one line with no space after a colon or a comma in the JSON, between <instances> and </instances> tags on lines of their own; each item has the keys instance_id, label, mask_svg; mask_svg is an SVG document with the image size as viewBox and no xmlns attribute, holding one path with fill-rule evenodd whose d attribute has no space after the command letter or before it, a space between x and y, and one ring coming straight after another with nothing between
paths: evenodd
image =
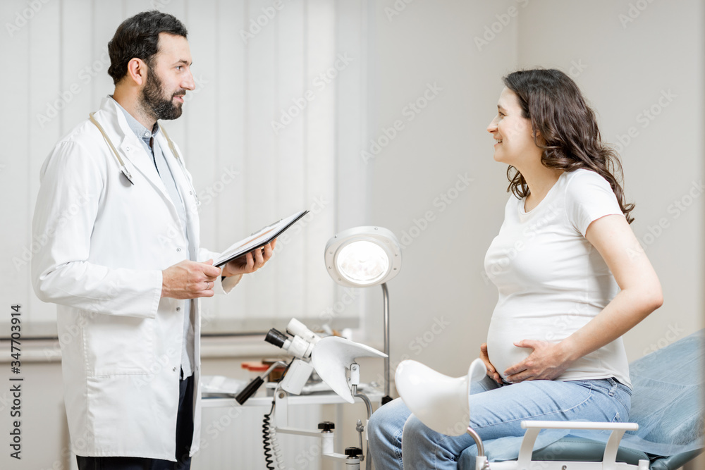
<instances>
[{"instance_id":1,"label":"white short-sleeved t-shirt stretched over the pregnant belly","mask_svg":"<svg viewBox=\"0 0 705 470\"><path fill-rule=\"evenodd\" d=\"M499 290L487 350L501 375L532 352L515 342L560 342L599 314L619 289L585 238L591 222L622 214L604 178L584 169L564 172L534 209L525 211L524 203L509 198L485 256L487 276ZM556 380L609 377L631 386L622 338L578 359Z\"/></svg>"}]
</instances>

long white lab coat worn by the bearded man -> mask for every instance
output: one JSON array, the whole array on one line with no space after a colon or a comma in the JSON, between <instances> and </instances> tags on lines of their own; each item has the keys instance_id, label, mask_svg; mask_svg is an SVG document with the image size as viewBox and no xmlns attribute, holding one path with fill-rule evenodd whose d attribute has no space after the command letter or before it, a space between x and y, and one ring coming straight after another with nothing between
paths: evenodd
<instances>
[{"instance_id":1,"label":"long white lab coat worn by the bearded man","mask_svg":"<svg viewBox=\"0 0 705 470\"><path fill-rule=\"evenodd\" d=\"M174 460L185 300L161 298L161 270L188 259L188 242L152 156L106 98L94 117L134 185L89 120L56 144L42 166L33 221L41 248L32 283L58 304L63 391L73 452ZM190 175L159 132L184 199L199 261ZM180 154L180 151L179 151ZM187 180L186 178L189 178ZM177 202L178 203L178 202ZM214 290L230 290L240 276ZM200 302L194 302L193 454L200 441Z\"/></svg>"}]
</instances>

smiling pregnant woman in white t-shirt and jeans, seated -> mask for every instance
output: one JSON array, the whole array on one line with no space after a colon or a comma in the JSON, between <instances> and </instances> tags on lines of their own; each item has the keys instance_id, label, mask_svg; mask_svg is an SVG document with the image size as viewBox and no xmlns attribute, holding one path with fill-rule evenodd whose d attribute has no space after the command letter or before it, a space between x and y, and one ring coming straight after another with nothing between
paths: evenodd
<instances>
[{"instance_id":1,"label":"smiling pregnant woman in white t-shirt and jeans, seated","mask_svg":"<svg viewBox=\"0 0 705 470\"><path fill-rule=\"evenodd\" d=\"M473 384L482 440L520 436L522 420L626 421L631 384L622 335L663 302L629 226L618 156L594 112L558 70L503 78L487 130L512 195L485 257L499 299ZM455 469L474 441L424 426L401 400L369 421L377 469Z\"/></svg>"}]
</instances>

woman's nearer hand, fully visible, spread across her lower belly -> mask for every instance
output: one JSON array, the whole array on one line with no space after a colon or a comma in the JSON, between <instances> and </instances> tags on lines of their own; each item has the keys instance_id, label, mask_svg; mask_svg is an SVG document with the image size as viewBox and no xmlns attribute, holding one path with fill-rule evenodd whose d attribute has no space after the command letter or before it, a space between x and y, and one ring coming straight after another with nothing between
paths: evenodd
<instances>
[{"instance_id":1,"label":"woman's nearer hand, fully visible, spread across her lower belly","mask_svg":"<svg viewBox=\"0 0 705 470\"><path fill-rule=\"evenodd\" d=\"M516 347L533 350L529 357L504 371L506 381L517 383L522 381L551 381L560 376L572 360L564 351L561 343L540 340L521 340L514 343Z\"/></svg>"}]
</instances>

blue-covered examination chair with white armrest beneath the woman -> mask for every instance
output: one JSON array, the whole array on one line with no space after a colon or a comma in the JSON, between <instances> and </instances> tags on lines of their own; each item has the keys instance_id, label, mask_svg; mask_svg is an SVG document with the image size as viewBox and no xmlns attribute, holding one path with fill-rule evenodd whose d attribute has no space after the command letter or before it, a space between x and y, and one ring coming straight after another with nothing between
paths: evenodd
<instances>
[{"instance_id":1,"label":"blue-covered examination chair with white armrest beneath the woman","mask_svg":"<svg viewBox=\"0 0 705 470\"><path fill-rule=\"evenodd\" d=\"M527 432L523 438L500 438L483 443L475 435L478 444L460 454L458 469L678 469L697 457L704 447L704 352L705 335L704 330L700 330L632 362L629 423L524 421L522 428ZM467 381L482 378L484 364L478 361L470 367ZM482 371L473 371L473 366ZM404 373L398 370L397 376L400 375ZM439 383L439 378L434 381ZM399 382L397 388L406 401ZM422 409L417 413L410 403L407 405L429 426L419 416L423 414ZM434 416L427 419L432 422ZM486 458L478 458L479 454Z\"/></svg>"}]
</instances>

